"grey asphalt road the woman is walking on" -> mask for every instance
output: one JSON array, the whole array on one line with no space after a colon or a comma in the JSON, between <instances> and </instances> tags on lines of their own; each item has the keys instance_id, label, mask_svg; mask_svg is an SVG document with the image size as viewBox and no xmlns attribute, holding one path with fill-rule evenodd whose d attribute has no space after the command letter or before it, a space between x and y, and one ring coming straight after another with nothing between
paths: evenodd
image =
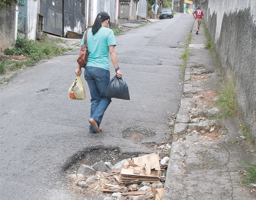
<instances>
[{"instance_id":1,"label":"grey asphalt road the woman is walking on","mask_svg":"<svg viewBox=\"0 0 256 200\"><path fill-rule=\"evenodd\" d=\"M112 99L102 133L88 132L90 92L69 100L79 49L42 60L1 86L1 199L71 199L65 173L91 148L148 153L148 143L170 139L168 118L179 110L182 54L193 26L189 14L156 21L116 36L116 52L130 101ZM115 74L111 63L111 77ZM125 138L142 134L140 140Z\"/></svg>"}]
</instances>

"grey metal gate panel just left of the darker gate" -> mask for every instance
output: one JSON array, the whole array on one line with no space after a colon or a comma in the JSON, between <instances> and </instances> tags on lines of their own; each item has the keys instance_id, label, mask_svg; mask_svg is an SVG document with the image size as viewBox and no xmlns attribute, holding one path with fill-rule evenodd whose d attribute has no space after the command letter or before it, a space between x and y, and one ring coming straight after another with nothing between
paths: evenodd
<instances>
[{"instance_id":1,"label":"grey metal gate panel just left of the darker gate","mask_svg":"<svg viewBox=\"0 0 256 200\"><path fill-rule=\"evenodd\" d=\"M63 0L40 0L44 14L44 32L63 36Z\"/></svg>"}]
</instances>

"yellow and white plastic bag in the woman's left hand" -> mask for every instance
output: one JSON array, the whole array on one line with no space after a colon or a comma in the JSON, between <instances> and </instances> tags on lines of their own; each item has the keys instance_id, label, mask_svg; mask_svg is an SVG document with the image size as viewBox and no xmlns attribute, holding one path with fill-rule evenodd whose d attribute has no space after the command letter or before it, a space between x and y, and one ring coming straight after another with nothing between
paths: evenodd
<instances>
[{"instance_id":1,"label":"yellow and white plastic bag in the woman's left hand","mask_svg":"<svg viewBox=\"0 0 256 200\"><path fill-rule=\"evenodd\" d=\"M81 77L76 77L72 86L69 88L69 99L84 100L86 99L86 90Z\"/></svg>"}]
</instances>

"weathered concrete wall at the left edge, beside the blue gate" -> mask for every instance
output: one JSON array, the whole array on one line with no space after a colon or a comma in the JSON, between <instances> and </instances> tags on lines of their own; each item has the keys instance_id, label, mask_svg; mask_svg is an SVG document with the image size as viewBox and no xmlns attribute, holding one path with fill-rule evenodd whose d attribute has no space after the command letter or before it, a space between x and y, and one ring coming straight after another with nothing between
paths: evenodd
<instances>
[{"instance_id":1,"label":"weathered concrete wall at the left edge, beside the blue gate","mask_svg":"<svg viewBox=\"0 0 256 200\"><path fill-rule=\"evenodd\" d=\"M0 50L15 45L16 5L0 9Z\"/></svg>"}]
</instances>

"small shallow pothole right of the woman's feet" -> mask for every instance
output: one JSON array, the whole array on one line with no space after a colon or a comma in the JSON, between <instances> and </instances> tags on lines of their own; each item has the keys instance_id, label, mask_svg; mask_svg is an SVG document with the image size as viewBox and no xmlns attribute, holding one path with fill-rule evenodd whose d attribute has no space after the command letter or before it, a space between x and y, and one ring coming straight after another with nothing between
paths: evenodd
<instances>
[{"instance_id":1,"label":"small shallow pothole right of the woman's feet","mask_svg":"<svg viewBox=\"0 0 256 200\"><path fill-rule=\"evenodd\" d=\"M131 140L133 142L140 142L144 137L155 136L156 133L151 129L141 129L139 127L132 127L123 130L122 136L125 139Z\"/></svg>"}]
</instances>

